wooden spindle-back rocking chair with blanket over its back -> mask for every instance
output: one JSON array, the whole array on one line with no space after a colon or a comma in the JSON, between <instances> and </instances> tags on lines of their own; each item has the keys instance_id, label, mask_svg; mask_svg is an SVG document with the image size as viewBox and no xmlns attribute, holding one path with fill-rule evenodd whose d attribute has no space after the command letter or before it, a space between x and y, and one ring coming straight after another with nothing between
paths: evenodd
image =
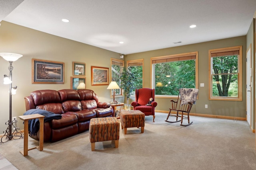
<instances>
[{"instance_id":1,"label":"wooden spindle-back rocking chair with blanket over its back","mask_svg":"<svg viewBox=\"0 0 256 170\"><path fill-rule=\"evenodd\" d=\"M180 89L180 92L184 89L185 88ZM185 90L188 90L188 89L185 89ZM196 92L193 94L193 98L196 99L198 90L195 89L195 91ZM190 91L190 92L192 92L192 91ZM190 123L189 113L190 113L190 110L191 110L191 108L192 108L192 106L195 102L194 101L185 102L185 104L184 104L184 101L182 101L182 98L180 96L181 96L181 93L179 94L177 101L170 100L172 102L172 108L170 108L170 111L169 111L168 116L166 118L166 122L175 123L175 122L180 121L181 126L188 126L188 125L191 125L193 123L193 122ZM179 97L181 98L180 100L179 100ZM186 116L184 116L184 113L186 114ZM176 121L168 121L168 118L170 116L176 117ZM180 117L180 120L178 120L178 117ZM182 125L183 119L188 119L188 124L187 125Z\"/></svg>"}]
</instances>

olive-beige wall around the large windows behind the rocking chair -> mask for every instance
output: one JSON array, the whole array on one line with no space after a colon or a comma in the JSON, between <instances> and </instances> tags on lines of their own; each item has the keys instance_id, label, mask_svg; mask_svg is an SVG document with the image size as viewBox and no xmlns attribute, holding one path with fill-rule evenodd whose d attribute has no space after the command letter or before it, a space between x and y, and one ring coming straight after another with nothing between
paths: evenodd
<instances>
[{"instance_id":1,"label":"olive-beige wall around the large windows behind the rocking chair","mask_svg":"<svg viewBox=\"0 0 256 170\"><path fill-rule=\"evenodd\" d=\"M208 50L224 47L232 47L242 45L242 101L216 101L208 99ZM209 41L179 47L159 49L126 55L126 60L144 59L144 87L150 88L150 57L158 57L164 55L173 55L179 53L188 53L198 51L198 84L204 83L204 87L198 87L198 100L196 105L192 107L191 113L221 115L229 117L246 117L246 36L221 39L217 41ZM156 110L168 111L170 108L169 98L156 98L158 103ZM205 108L208 104L208 108Z\"/></svg>"}]
</instances>

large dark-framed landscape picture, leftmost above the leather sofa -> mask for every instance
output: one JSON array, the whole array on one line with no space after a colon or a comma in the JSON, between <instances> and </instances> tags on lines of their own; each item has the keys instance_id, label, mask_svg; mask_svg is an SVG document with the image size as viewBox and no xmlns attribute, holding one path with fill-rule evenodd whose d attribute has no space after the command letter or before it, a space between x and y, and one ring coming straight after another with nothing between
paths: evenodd
<instances>
[{"instance_id":1,"label":"large dark-framed landscape picture, leftmost above the leather sofa","mask_svg":"<svg viewBox=\"0 0 256 170\"><path fill-rule=\"evenodd\" d=\"M32 59L32 83L64 83L64 63Z\"/></svg>"}]
</instances>

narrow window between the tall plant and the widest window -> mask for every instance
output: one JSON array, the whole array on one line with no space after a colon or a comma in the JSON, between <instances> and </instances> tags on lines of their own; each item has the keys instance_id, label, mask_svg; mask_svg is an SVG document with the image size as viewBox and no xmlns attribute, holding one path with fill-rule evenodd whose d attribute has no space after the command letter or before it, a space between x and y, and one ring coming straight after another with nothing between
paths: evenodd
<instances>
[{"instance_id":1,"label":"narrow window between the tall plant and the widest window","mask_svg":"<svg viewBox=\"0 0 256 170\"><path fill-rule=\"evenodd\" d=\"M136 72L138 74L135 82L136 89L143 88L144 59L127 61L127 66L131 67L132 72ZM132 95L135 95L135 89L133 90Z\"/></svg>"}]
</instances>

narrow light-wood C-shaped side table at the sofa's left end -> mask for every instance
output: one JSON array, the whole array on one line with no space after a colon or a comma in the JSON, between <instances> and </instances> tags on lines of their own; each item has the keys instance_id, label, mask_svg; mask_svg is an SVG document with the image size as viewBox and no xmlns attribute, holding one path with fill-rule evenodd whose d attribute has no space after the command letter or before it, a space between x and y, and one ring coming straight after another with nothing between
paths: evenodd
<instances>
[{"instance_id":1,"label":"narrow light-wood C-shaped side table at the sofa's left end","mask_svg":"<svg viewBox=\"0 0 256 170\"><path fill-rule=\"evenodd\" d=\"M40 114L22 115L22 116L19 116L19 118L24 121L24 150L21 150L20 153L23 156L27 156L28 150L38 149L38 150L42 151L43 147L44 147L44 115L40 115ZM39 123L40 123L39 146L28 149L28 120L37 119L37 118L39 119Z\"/></svg>"}]
</instances>

